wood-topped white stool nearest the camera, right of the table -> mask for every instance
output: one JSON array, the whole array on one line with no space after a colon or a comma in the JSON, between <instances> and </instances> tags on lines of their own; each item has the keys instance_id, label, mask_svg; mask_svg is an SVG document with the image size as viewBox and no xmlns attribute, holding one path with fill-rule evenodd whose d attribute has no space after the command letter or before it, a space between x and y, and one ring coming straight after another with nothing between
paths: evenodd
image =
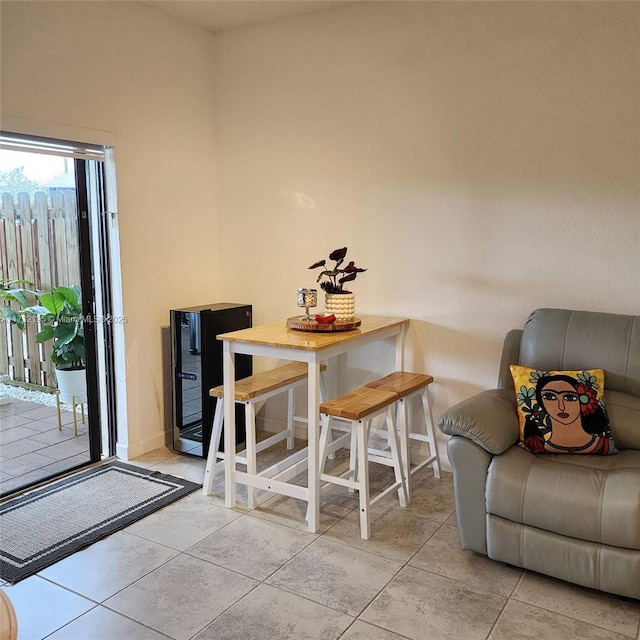
<instances>
[{"instance_id":1,"label":"wood-topped white stool nearest the camera, right of the table","mask_svg":"<svg viewBox=\"0 0 640 640\"><path fill-rule=\"evenodd\" d=\"M349 489L357 489L360 499L360 536L365 540L371 537L372 504L399 488L400 505L408 504L407 487L398 443L393 407L398 396L391 391L360 387L342 396L320 405L322 431L320 433L320 480L339 484ZM374 449L369 446L371 421L384 415L387 444L389 449ZM327 446L335 418L351 423L351 460L349 469L340 476L324 473ZM374 498L369 495L369 462L376 462L395 471L395 483L387 487Z\"/></svg>"}]
</instances>

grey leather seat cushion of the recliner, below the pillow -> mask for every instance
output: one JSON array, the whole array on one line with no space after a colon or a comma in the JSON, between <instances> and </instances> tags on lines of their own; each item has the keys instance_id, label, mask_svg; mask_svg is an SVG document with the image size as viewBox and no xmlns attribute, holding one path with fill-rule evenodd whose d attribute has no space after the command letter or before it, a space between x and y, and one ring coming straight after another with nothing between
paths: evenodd
<instances>
[{"instance_id":1,"label":"grey leather seat cushion of the recliner, below the pillow","mask_svg":"<svg viewBox=\"0 0 640 640\"><path fill-rule=\"evenodd\" d=\"M616 456L494 456L487 512L511 522L599 544L640 550L640 451Z\"/></svg>"}]
</instances>

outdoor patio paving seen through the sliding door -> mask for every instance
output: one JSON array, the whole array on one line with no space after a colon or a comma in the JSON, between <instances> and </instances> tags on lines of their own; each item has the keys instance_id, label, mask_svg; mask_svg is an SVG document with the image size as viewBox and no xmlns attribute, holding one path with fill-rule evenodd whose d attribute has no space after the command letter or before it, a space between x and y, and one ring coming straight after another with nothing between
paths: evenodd
<instances>
[{"instance_id":1,"label":"outdoor patio paving seen through the sliding door","mask_svg":"<svg viewBox=\"0 0 640 640\"><path fill-rule=\"evenodd\" d=\"M12 399L0 405L0 494L17 491L54 474L65 473L90 460L87 425L77 412Z\"/></svg>"}]
</instances>

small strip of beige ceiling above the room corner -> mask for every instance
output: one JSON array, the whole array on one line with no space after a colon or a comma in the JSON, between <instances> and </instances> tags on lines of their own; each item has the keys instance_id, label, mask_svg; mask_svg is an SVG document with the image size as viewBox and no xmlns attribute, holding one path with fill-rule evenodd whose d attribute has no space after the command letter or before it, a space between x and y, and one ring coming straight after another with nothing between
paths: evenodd
<instances>
[{"instance_id":1,"label":"small strip of beige ceiling above the room corner","mask_svg":"<svg viewBox=\"0 0 640 640\"><path fill-rule=\"evenodd\" d=\"M331 9L354 0L141 0L211 33Z\"/></svg>"}]
</instances>

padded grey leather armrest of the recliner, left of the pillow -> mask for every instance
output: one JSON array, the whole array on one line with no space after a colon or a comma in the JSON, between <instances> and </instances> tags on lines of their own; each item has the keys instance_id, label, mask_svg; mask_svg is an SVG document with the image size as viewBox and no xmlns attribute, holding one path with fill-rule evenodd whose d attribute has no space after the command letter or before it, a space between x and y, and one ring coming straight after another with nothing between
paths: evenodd
<instances>
[{"instance_id":1,"label":"padded grey leather armrest of the recliner, left of the pillow","mask_svg":"<svg viewBox=\"0 0 640 640\"><path fill-rule=\"evenodd\" d=\"M450 436L469 438L493 455L518 440L515 394L509 389L483 391L445 411L438 427Z\"/></svg>"}]
</instances>

